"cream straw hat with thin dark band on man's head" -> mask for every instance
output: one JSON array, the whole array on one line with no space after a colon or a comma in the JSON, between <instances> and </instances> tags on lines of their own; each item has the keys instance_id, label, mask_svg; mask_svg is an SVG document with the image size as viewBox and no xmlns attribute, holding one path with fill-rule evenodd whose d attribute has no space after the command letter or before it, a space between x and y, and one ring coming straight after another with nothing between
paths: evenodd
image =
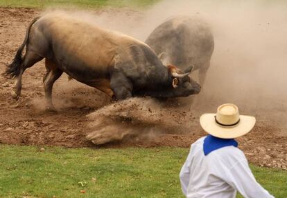
<instances>
[{"instance_id":1,"label":"cream straw hat with thin dark band on man's head","mask_svg":"<svg viewBox=\"0 0 287 198\"><path fill-rule=\"evenodd\" d=\"M224 139L241 137L250 132L255 124L255 117L239 115L238 107L225 103L215 113L207 113L200 117L200 125L210 135Z\"/></svg>"}]
</instances>

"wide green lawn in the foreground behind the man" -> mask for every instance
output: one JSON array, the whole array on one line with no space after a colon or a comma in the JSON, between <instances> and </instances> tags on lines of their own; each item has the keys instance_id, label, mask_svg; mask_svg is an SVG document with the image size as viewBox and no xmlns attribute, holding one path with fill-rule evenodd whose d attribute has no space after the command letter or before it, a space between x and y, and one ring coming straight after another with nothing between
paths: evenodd
<instances>
[{"instance_id":1,"label":"wide green lawn in the foreground behind the man","mask_svg":"<svg viewBox=\"0 0 287 198\"><path fill-rule=\"evenodd\" d=\"M0 145L0 197L183 197L178 173L187 152ZM275 197L287 197L287 171L252 170Z\"/></svg>"}]
</instances>

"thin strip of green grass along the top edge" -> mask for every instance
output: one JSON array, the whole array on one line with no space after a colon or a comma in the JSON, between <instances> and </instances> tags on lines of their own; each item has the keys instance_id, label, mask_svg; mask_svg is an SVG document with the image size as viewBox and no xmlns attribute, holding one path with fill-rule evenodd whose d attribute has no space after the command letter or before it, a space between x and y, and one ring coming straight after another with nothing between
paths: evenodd
<instances>
[{"instance_id":1,"label":"thin strip of green grass along the top edge","mask_svg":"<svg viewBox=\"0 0 287 198\"><path fill-rule=\"evenodd\" d=\"M153 5L159 0L0 0L0 7L15 8L46 8L46 7L80 7L80 8L103 8L103 7L146 7Z\"/></svg>"}]
</instances>

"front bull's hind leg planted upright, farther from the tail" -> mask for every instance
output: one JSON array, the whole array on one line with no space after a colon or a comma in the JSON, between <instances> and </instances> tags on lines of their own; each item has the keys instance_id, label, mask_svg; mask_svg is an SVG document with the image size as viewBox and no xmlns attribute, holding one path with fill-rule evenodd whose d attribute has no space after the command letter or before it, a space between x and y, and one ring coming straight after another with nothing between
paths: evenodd
<instances>
[{"instance_id":1,"label":"front bull's hind leg planted upright, farther from the tail","mask_svg":"<svg viewBox=\"0 0 287 198\"><path fill-rule=\"evenodd\" d=\"M55 107L53 106L53 103L52 103L53 84L58 78L60 78L63 72L62 70L57 68L55 63L53 63L49 59L45 60L45 66L46 66L47 73L44 76L43 82L44 82L44 90L45 90L45 98L46 98L46 109L55 111Z\"/></svg>"}]
</instances>

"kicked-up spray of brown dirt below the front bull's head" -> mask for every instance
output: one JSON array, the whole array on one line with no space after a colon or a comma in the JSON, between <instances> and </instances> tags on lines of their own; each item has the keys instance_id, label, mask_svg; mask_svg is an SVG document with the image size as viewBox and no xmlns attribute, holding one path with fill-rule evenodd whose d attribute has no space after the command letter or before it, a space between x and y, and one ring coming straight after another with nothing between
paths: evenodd
<instances>
[{"instance_id":1,"label":"kicked-up spray of brown dirt below the front bull's head","mask_svg":"<svg viewBox=\"0 0 287 198\"><path fill-rule=\"evenodd\" d=\"M92 130L87 139L103 144L130 136L153 141L160 134L181 133L188 130L186 118L191 115L156 99L132 98L104 106L87 117Z\"/></svg>"}]
</instances>

